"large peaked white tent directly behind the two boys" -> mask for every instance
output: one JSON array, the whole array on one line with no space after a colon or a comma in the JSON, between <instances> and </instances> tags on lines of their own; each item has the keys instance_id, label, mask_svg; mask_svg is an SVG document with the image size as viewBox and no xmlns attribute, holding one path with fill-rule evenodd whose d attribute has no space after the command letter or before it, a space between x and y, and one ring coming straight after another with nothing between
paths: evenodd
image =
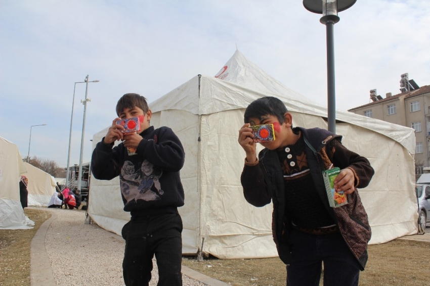
<instances>
[{"instance_id":1,"label":"large peaked white tent directly behind the two boys","mask_svg":"<svg viewBox=\"0 0 430 286\"><path fill-rule=\"evenodd\" d=\"M154 127L171 127L185 149L185 206L179 209L184 254L202 250L228 259L277 256L273 206L249 205L240 184L245 153L237 142L238 130L248 104L264 96L281 99L294 126L327 128L326 108L288 89L239 51L216 77L195 76L149 104ZM376 171L370 185L359 190L372 227L370 243L416 233L414 130L344 111L336 111L336 119L343 144L367 157ZM106 131L94 135L94 146ZM93 178L89 212L94 221L120 234L130 219L122 208L118 178Z\"/></svg>"}]
</instances>

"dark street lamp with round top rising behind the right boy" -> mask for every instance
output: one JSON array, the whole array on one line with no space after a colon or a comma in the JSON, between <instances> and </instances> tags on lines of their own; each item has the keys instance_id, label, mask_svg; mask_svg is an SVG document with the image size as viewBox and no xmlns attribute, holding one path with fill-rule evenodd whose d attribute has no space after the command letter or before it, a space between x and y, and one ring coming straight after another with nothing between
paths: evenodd
<instances>
[{"instance_id":1,"label":"dark street lamp with round top rising behind the right boy","mask_svg":"<svg viewBox=\"0 0 430 286\"><path fill-rule=\"evenodd\" d=\"M303 6L313 13L322 14L320 22L326 26L327 37L327 121L328 130L336 132L336 96L334 88L334 24L340 18L337 12L347 10L357 0L303 0Z\"/></svg>"}]
</instances>

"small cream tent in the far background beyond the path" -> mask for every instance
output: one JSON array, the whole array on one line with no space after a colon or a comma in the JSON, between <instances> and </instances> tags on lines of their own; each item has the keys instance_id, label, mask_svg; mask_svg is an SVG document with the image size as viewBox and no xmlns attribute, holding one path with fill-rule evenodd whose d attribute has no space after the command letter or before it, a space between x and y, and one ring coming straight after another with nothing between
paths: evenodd
<instances>
[{"instance_id":1,"label":"small cream tent in the far background beyond the path","mask_svg":"<svg viewBox=\"0 0 430 286\"><path fill-rule=\"evenodd\" d=\"M24 162L28 179L28 205L47 207L52 194L56 192L54 177L45 171Z\"/></svg>"}]
</instances>

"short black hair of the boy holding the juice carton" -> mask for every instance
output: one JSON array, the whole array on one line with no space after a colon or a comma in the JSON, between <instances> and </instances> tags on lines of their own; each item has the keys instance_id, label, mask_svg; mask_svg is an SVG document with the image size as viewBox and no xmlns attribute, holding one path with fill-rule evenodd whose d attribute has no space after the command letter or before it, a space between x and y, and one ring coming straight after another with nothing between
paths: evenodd
<instances>
[{"instance_id":1,"label":"short black hair of the boy holding the juice carton","mask_svg":"<svg viewBox=\"0 0 430 286\"><path fill-rule=\"evenodd\" d=\"M261 118L263 115L273 115L282 124L285 121L284 114L288 112L285 104L274 97L264 97L251 102L245 110L243 119L245 123L249 123L249 118Z\"/></svg>"}]
</instances>

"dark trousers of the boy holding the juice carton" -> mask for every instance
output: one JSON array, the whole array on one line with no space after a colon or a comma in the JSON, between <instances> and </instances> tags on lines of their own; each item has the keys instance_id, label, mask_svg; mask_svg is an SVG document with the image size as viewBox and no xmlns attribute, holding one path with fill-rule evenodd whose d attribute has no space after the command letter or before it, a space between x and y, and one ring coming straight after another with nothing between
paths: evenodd
<instances>
[{"instance_id":1,"label":"dark trousers of the boy holding the juice carton","mask_svg":"<svg viewBox=\"0 0 430 286\"><path fill-rule=\"evenodd\" d=\"M324 286L357 286L360 264L339 232L314 235L293 230L287 286L318 286L324 264Z\"/></svg>"}]
</instances>

